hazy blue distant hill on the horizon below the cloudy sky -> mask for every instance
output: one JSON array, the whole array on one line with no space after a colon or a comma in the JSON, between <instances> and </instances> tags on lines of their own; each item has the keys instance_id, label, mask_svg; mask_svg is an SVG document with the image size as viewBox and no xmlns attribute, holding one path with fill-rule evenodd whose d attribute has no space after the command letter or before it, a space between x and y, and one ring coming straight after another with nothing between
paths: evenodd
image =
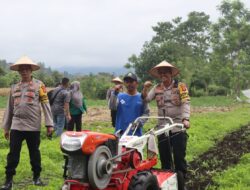
<instances>
[{"instance_id":1,"label":"hazy blue distant hill on the horizon below the cloudy sky","mask_svg":"<svg viewBox=\"0 0 250 190\"><path fill-rule=\"evenodd\" d=\"M115 75L122 75L128 72L128 69L124 67L58 67L54 68L58 70L59 72L67 72L69 74L81 74L81 75L87 75L87 74L97 74L97 73L111 73Z\"/></svg>"}]
</instances>

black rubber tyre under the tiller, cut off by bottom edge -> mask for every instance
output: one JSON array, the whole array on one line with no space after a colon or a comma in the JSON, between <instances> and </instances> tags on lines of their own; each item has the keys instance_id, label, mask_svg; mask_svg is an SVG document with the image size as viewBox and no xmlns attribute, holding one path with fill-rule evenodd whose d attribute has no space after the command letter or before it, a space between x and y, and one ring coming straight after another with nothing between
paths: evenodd
<instances>
[{"instance_id":1,"label":"black rubber tyre under the tiller, cut off by bottom edge","mask_svg":"<svg viewBox=\"0 0 250 190\"><path fill-rule=\"evenodd\" d=\"M159 190L157 178L150 171L139 172L133 176L128 190Z\"/></svg>"}]
</instances>

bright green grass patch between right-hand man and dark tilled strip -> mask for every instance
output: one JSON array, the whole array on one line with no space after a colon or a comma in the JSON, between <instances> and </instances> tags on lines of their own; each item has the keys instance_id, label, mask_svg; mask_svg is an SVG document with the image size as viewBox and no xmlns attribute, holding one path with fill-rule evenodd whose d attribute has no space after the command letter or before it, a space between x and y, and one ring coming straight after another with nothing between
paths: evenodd
<instances>
[{"instance_id":1,"label":"bright green grass patch between right-hand man and dark tilled strip","mask_svg":"<svg viewBox=\"0 0 250 190\"><path fill-rule=\"evenodd\" d=\"M188 130L187 160L213 147L218 139L227 133L250 123L250 106L236 107L230 112L209 112L192 114L191 128Z\"/></svg>"}]
</instances>

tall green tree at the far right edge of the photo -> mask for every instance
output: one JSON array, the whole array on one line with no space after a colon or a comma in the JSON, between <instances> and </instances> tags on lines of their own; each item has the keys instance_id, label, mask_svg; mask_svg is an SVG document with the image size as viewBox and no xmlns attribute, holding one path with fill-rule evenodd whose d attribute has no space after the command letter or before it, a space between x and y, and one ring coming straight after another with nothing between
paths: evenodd
<instances>
[{"instance_id":1,"label":"tall green tree at the far right edge of the photo","mask_svg":"<svg viewBox=\"0 0 250 190\"><path fill-rule=\"evenodd\" d=\"M222 16L212 27L215 81L239 96L243 87L250 87L250 12L238 0L223 1L218 9Z\"/></svg>"}]
</instances>

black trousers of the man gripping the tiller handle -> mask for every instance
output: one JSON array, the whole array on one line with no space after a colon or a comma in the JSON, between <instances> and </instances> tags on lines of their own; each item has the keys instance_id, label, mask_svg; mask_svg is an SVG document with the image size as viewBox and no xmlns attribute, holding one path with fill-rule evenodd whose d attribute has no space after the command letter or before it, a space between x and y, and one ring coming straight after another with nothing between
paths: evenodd
<instances>
[{"instance_id":1,"label":"black trousers of the man gripping the tiller handle","mask_svg":"<svg viewBox=\"0 0 250 190\"><path fill-rule=\"evenodd\" d=\"M175 171L181 171L184 175L187 172L187 162L185 160L187 147L187 133L170 133L170 137L160 135L158 137L158 147L162 169L174 169L172 155L174 158Z\"/></svg>"}]
</instances>

